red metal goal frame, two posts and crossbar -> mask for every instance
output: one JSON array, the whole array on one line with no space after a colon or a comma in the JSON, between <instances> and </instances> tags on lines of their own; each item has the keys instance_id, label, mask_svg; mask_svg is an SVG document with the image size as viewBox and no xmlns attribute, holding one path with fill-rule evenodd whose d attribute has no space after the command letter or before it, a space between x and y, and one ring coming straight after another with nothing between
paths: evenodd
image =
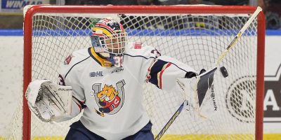
<instances>
[{"instance_id":1,"label":"red metal goal frame, two posts and crossbar","mask_svg":"<svg viewBox=\"0 0 281 140\"><path fill-rule=\"evenodd\" d=\"M24 19L24 69L23 69L23 116L22 139L31 139L31 114L25 99L25 90L32 81L32 24L37 13L122 13L122 14L251 14L251 6L32 6ZM264 45L265 18L257 17L257 61L256 61L256 118L255 139L263 139L263 92L264 92ZM161 51L161 50L160 50Z\"/></svg>"}]
</instances>

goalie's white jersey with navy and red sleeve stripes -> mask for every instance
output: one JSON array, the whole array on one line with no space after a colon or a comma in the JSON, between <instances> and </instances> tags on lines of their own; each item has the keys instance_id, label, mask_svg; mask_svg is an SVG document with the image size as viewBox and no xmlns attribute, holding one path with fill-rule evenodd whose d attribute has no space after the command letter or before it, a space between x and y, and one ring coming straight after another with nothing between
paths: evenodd
<instances>
[{"instance_id":1,"label":"goalie's white jersey with navy and red sleeve stripes","mask_svg":"<svg viewBox=\"0 0 281 140\"><path fill-rule=\"evenodd\" d=\"M148 124L143 106L143 83L172 90L176 78L184 78L190 66L160 56L142 43L126 45L122 66L109 66L93 48L65 59L58 83L73 88L73 97L84 106L81 123L105 139L124 139Z\"/></svg>"}]
</instances>

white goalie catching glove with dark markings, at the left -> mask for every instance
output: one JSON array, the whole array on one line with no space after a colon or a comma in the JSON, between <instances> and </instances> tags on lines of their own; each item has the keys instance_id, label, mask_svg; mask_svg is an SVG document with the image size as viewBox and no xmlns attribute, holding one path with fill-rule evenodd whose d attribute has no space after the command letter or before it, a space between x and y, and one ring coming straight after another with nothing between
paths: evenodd
<instances>
[{"instance_id":1,"label":"white goalie catching glove with dark markings, at the left","mask_svg":"<svg viewBox=\"0 0 281 140\"><path fill-rule=\"evenodd\" d=\"M44 122L70 120L79 113L72 111L75 104L72 87L57 85L51 80L34 80L28 85L25 97L30 110Z\"/></svg>"}]
</instances>

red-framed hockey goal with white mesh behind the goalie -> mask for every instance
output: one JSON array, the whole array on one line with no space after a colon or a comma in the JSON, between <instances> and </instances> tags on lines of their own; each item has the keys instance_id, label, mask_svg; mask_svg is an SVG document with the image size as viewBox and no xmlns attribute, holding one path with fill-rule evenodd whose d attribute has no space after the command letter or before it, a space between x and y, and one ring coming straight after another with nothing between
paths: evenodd
<instances>
[{"instance_id":1,"label":"red-framed hockey goal with white mesh behind the goalie","mask_svg":"<svg viewBox=\"0 0 281 140\"><path fill-rule=\"evenodd\" d=\"M115 18L124 25L129 41L151 45L200 71L214 66L254 10L247 6L32 6L25 13L23 91L31 80L56 81L67 55L91 47L91 24L99 18ZM217 73L214 80L218 113L196 120L183 111L162 139L262 139L263 54L261 13L221 62L229 76ZM149 83L144 89L144 106L156 136L183 97ZM7 139L64 139L69 125L79 119L60 125L41 123L30 115L25 99L19 104Z\"/></svg>"}]
</instances>

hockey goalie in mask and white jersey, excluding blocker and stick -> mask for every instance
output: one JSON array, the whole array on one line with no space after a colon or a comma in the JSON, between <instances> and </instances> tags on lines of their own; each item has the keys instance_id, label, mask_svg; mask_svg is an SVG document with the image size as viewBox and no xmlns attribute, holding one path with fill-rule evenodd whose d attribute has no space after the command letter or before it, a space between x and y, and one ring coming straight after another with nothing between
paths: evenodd
<instances>
[{"instance_id":1,"label":"hockey goalie in mask and white jersey, excluding blocker and stick","mask_svg":"<svg viewBox=\"0 0 281 140\"><path fill-rule=\"evenodd\" d=\"M143 106L143 83L174 90L178 78L195 77L197 71L143 43L127 43L126 31L111 18L91 31L92 46L65 59L58 85L50 80L30 83L30 110L44 122L61 122L84 109L65 139L154 139Z\"/></svg>"}]
</instances>

